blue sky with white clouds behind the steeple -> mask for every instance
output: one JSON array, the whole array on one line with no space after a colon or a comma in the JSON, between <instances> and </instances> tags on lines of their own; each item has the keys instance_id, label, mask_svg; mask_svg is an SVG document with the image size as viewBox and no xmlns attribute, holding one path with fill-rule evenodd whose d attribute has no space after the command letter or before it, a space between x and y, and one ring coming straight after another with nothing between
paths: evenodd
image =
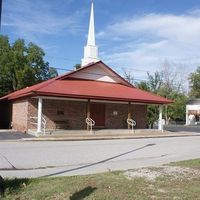
<instances>
[{"instance_id":1,"label":"blue sky with white clouds behind the steeple","mask_svg":"<svg viewBox=\"0 0 200 200\"><path fill-rule=\"evenodd\" d=\"M3 0L1 34L44 49L50 66L81 63L91 0ZM163 68L186 76L200 65L200 0L94 0L100 59L145 80Z\"/></svg>"}]
</instances>

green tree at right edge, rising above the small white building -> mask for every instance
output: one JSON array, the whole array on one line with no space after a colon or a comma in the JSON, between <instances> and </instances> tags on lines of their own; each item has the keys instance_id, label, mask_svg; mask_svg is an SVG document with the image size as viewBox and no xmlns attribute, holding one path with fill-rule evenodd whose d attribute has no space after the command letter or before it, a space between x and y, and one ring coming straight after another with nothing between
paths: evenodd
<instances>
[{"instance_id":1,"label":"green tree at right edge, rising above the small white building","mask_svg":"<svg viewBox=\"0 0 200 200\"><path fill-rule=\"evenodd\" d=\"M190 97L200 98L200 66L196 69L194 73L189 76L190 82Z\"/></svg>"}]
</instances>

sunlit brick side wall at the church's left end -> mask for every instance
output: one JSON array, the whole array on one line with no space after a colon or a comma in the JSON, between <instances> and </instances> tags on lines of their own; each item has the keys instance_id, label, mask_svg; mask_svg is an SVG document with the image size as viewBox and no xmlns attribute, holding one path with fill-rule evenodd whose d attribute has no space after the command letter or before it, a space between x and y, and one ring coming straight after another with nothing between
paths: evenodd
<instances>
[{"instance_id":1,"label":"sunlit brick side wall at the church's left end","mask_svg":"<svg viewBox=\"0 0 200 200\"><path fill-rule=\"evenodd\" d=\"M19 100L12 103L12 128L18 131L27 131L28 101Z\"/></svg>"}]
</instances>

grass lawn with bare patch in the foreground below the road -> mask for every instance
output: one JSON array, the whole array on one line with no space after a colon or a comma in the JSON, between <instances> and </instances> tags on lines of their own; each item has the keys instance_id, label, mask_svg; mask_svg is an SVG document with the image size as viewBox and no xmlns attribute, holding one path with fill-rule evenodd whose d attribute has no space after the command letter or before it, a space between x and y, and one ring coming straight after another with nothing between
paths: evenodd
<instances>
[{"instance_id":1,"label":"grass lawn with bare patch in the foreground below the road","mask_svg":"<svg viewBox=\"0 0 200 200\"><path fill-rule=\"evenodd\" d=\"M87 176L7 179L12 200L200 199L200 159Z\"/></svg>"}]
</instances>

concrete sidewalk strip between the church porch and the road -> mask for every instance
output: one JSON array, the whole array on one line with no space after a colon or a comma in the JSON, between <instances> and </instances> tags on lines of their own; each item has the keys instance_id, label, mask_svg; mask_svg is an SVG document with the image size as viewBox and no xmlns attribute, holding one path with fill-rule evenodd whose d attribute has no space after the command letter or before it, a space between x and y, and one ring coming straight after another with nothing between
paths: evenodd
<instances>
[{"instance_id":1,"label":"concrete sidewalk strip between the church porch and the road","mask_svg":"<svg viewBox=\"0 0 200 200\"><path fill-rule=\"evenodd\" d=\"M53 134L46 134L35 137L12 130L0 130L0 142L16 141L85 141L85 140L114 140L114 139L143 139L143 138L165 138L165 137L187 137L200 136L196 132L171 132L158 130L97 130L88 131L57 131Z\"/></svg>"}]
</instances>

